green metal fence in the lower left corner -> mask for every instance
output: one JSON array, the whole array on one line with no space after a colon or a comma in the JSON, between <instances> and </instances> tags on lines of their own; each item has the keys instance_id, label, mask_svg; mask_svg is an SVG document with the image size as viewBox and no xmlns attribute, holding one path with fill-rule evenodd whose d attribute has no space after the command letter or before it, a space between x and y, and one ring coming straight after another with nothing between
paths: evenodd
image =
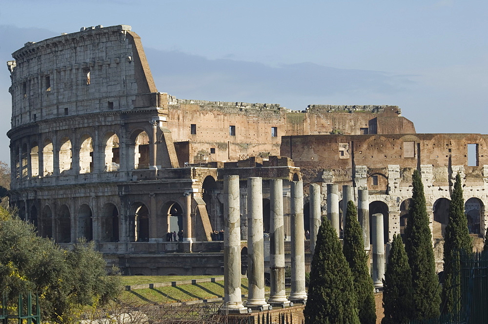
<instances>
[{"instance_id":1,"label":"green metal fence in the lower left corner","mask_svg":"<svg viewBox=\"0 0 488 324\"><path fill-rule=\"evenodd\" d=\"M19 295L17 303L7 300L5 294L2 295L0 321L2 324L41 324L41 309L39 307L39 297L36 294L34 304L32 295Z\"/></svg>"}]
</instances>

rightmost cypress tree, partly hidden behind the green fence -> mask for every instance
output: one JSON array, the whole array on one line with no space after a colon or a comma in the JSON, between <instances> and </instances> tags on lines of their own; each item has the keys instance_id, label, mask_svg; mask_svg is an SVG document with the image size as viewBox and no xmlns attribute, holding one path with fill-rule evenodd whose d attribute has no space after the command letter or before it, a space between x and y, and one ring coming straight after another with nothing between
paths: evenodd
<instances>
[{"instance_id":1,"label":"rightmost cypress tree, partly hidden behind the green fence","mask_svg":"<svg viewBox=\"0 0 488 324\"><path fill-rule=\"evenodd\" d=\"M473 244L468 230L468 219L464 214L463 188L461 176L456 175L456 182L451 193L449 222L444 235L444 286L442 290L443 313L456 312L456 300L460 297L460 278L453 276L453 256L456 250L471 253ZM455 291L456 290L456 291Z\"/></svg>"}]
</instances>

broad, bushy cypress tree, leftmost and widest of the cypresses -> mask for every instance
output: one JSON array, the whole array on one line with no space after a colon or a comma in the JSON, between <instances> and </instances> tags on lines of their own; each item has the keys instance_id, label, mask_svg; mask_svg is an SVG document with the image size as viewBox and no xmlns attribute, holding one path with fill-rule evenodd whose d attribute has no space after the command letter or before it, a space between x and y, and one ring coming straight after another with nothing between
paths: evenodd
<instances>
[{"instance_id":1,"label":"broad, bushy cypress tree, leftmost and widest of the cypresses","mask_svg":"<svg viewBox=\"0 0 488 324\"><path fill-rule=\"evenodd\" d=\"M305 324L360 324L351 270L341 242L326 218L317 234Z\"/></svg>"}]
</instances>

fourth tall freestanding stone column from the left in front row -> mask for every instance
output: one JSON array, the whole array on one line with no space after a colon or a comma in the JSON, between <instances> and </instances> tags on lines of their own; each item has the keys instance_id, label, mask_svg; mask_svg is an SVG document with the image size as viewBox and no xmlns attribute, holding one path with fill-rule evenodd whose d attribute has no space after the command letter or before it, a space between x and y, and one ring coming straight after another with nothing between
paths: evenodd
<instances>
[{"instance_id":1,"label":"fourth tall freestanding stone column from the left in front row","mask_svg":"<svg viewBox=\"0 0 488 324\"><path fill-rule=\"evenodd\" d=\"M306 301L304 186L302 181L291 182L291 293L294 303Z\"/></svg>"}]
</instances>

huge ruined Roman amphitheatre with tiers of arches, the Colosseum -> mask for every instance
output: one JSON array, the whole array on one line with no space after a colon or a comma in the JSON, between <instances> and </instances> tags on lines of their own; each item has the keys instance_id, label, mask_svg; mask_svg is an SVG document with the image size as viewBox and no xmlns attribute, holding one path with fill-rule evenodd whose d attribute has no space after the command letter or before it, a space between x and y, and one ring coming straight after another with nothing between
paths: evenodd
<instances>
[{"instance_id":1,"label":"huge ruined Roman amphitheatre with tiers of arches, the Colosseum","mask_svg":"<svg viewBox=\"0 0 488 324\"><path fill-rule=\"evenodd\" d=\"M388 242L405 227L416 169L434 245L458 172L469 231L485 234L488 135L418 134L396 106L299 112L178 99L157 91L141 39L127 25L27 42L12 56L11 204L39 235L65 247L93 240L127 274L223 273L222 242L212 233L223 229L229 174L242 180L243 240L249 176L284 180L288 233L291 180L305 184L304 231L311 183L322 188L323 215L327 184L352 186L355 199L367 188L370 213L385 215ZM263 211L266 232L266 181Z\"/></svg>"}]
</instances>

